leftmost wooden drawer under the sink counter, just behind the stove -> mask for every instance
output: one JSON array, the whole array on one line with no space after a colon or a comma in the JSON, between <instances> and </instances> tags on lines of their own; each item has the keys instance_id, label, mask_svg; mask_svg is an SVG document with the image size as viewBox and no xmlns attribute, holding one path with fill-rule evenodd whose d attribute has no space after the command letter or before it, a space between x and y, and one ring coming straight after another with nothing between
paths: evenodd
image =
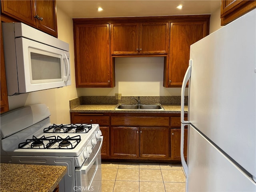
<instances>
[{"instance_id":1,"label":"leftmost wooden drawer under the sink counter, just behind the stove","mask_svg":"<svg viewBox=\"0 0 256 192\"><path fill-rule=\"evenodd\" d=\"M109 125L109 116L73 116L72 123Z\"/></svg>"}]
</instances>

